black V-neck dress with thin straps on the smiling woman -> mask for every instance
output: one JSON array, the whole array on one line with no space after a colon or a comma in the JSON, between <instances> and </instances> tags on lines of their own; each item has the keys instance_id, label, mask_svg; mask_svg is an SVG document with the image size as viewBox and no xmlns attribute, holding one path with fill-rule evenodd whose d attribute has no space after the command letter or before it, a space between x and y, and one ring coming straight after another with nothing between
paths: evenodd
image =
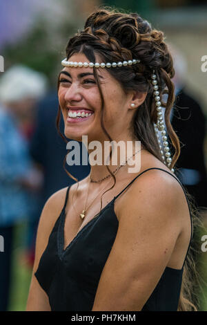
<instances>
[{"instance_id":1,"label":"black V-neck dress with thin straps on the smiling woman","mask_svg":"<svg viewBox=\"0 0 207 325\"><path fill-rule=\"evenodd\" d=\"M146 169L141 174L150 169ZM168 171L166 172L170 174ZM115 200L141 174L136 176L110 203L103 207L101 212L78 232L64 250L63 230L70 189L68 187L65 205L52 229L48 245L41 256L37 272L34 274L41 288L48 295L51 310L92 310L101 272L110 254L119 226L114 210ZM175 176L172 177L175 178ZM183 185L181 187L184 189ZM187 197L186 200L188 202ZM191 216L190 221L192 225ZM190 243L188 250L189 247ZM181 270L166 267L142 310L177 310L183 270L184 266Z\"/></svg>"}]
</instances>

